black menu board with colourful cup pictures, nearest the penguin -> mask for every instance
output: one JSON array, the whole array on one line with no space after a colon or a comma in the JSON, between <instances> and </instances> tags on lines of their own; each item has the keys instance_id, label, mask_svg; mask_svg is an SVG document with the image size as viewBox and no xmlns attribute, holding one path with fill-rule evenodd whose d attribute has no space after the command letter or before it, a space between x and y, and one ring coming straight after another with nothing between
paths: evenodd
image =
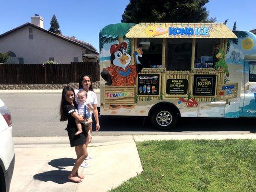
<instances>
[{"instance_id":1,"label":"black menu board with colourful cup pictures, nearest the penguin","mask_svg":"<svg viewBox=\"0 0 256 192\"><path fill-rule=\"evenodd\" d=\"M138 74L138 95L159 95L159 74Z\"/></svg>"}]
</instances>

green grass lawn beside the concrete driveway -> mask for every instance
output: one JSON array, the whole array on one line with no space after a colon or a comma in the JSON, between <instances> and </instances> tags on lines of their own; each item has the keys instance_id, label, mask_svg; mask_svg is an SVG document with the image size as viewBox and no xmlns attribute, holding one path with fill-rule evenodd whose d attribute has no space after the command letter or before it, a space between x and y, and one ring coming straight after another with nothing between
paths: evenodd
<instances>
[{"instance_id":1,"label":"green grass lawn beside the concrete driveway","mask_svg":"<svg viewBox=\"0 0 256 192\"><path fill-rule=\"evenodd\" d=\"M143 172L111 192L256 192L256 140L136 144Z\"/></svg>"}]
</instances>

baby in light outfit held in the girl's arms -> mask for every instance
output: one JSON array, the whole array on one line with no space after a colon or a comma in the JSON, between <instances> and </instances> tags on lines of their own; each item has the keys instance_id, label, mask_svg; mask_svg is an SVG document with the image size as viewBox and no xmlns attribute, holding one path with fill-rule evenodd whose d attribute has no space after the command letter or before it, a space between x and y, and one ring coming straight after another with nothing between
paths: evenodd
<instances>
[{"instance_id":1,"label":"baby in light outfit held in the girl's arms","mask_svg":"<svg viewBox=\"0 0 256 192\"><path fill-rule=\"evenodd\" d=\"M92 124L92 117L91 117L91 113L90 110L93 110L93 107L91 106L91 104L89 102L86 102L87 99L87 92L85 90L79 91L77 93L77 100L78 100L78 113L79 115L84 115L85 117L85 131L88 135L88 143L91 143L92 140L92 135L91 132L89 131L89 127L91 127ZM75 133L75 135L78 135L80 133L82 133L82 125L78 120L75 120L76 126L77 126L77 132Z\"/></svg>"}]
</instances>

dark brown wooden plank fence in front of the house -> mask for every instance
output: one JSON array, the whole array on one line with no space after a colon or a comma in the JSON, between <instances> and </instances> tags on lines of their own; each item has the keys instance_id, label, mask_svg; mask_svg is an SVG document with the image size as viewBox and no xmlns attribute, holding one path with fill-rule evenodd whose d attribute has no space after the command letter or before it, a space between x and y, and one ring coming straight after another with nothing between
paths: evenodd
<instances>
[{"instance_id":1,"label":"dark brown wooden plank fence in front of the house","mask_svg":"<svg viewBox=\"0 0 256 192\"><path fill-rule=\"evenodd\" d=\"M79 82L83 73L99 81L98 63L0 64L0 84L69 84Z\"/></svg>"}]
</instances>

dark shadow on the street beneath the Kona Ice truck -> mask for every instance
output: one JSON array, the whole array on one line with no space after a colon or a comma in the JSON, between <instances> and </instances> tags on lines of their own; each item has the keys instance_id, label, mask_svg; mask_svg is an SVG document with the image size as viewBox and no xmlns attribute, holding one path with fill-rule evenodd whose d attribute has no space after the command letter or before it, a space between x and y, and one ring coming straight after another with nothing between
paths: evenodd
<instances>
[{"instance_id":1,"label":"dark shadow on the street beneath the Kona Ice truck","mask_svg":"<svg viewBox=\"0 0 256 192\"><path fill-rule=\"evenodd\" d=\"M99 122L101 132L161 132L150 123L148 117L101 116ZM95 130L95 124L93 124L93 130ZM169 132L207 131L248 131L256 133L256 118L180 118L177 125Z\"/></svg>"}]
</instances>

